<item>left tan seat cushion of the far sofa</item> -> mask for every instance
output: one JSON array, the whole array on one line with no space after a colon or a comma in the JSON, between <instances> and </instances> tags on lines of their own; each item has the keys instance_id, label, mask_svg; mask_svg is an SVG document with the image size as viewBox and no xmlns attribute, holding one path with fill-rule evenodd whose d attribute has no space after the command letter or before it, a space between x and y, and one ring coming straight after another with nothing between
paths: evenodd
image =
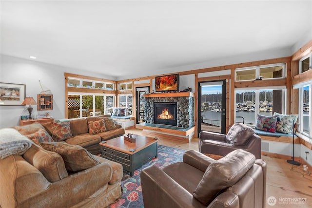
<instances>
[{"instance_id":1,"label":"left tan seat cushion of the far sofa","mask_svg":"<svg viewBox=\"0 0 312 208\"><path fill-rule=\"evenodd\" d=\"M66 143L71 145L79 145L83 148L87 148L89 146L92 146L94 144L97 144L101 142L101 137L97 134L89 134L89 133L82 133L79 135L76 135L70 139L66 139Z\"/></svg>"}]
</instances>

